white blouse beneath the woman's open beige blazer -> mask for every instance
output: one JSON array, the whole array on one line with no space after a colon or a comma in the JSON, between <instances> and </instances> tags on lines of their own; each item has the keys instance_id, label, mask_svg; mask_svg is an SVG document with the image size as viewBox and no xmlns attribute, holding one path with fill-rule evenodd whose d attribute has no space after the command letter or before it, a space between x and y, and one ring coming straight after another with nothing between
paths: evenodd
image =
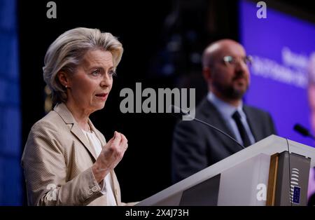
<instances>
[{"instance_id":1,"label":"white blouse beneath the woman's open beige blazer","mask_svg":"<svg viewBox=\"0 0 315 220\"><path fill-rule=\"evenodd\" d=\"M99 139L97 138L94 132L86 132L85 130L83 130L83 133L87 137L87 140L90 142L90 144L94 146L96 155L98 157L102 151L101 142L99 141ZM101 192L103 195L107 194L106 196L107 205L113 206L113 205L117 205L117 203L116 203L115 196L113 195L113 188L111 186L111 182L112 182L111 174L107 174L106 177L104 178L104 184L103 184L103 188Z\"/></svg>"}]
</instances>

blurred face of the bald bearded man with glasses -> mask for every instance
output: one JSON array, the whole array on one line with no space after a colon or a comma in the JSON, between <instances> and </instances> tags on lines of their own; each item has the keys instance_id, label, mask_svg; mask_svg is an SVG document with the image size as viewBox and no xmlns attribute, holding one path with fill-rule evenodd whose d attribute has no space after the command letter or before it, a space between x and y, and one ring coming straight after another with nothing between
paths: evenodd
<instances>
[{"instance_id":1,"label":"blurred face of the bald bearded man with glasses","mask_svg":"<svg viewBox=\"0 0 315 220\"><path fill-rule=\"evenodd\" d=\"M213 57L211 90L227 99L241 99L250 83L244 48L235 42L224 43Z\"/></svg>"}]
</instances>

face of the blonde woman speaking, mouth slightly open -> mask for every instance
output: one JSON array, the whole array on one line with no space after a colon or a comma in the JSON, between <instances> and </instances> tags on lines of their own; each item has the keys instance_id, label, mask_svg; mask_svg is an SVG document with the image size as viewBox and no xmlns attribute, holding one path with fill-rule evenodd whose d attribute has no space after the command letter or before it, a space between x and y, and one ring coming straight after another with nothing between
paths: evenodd
<instances>
[{"instance_id":1,"label":"face of the blonde woman speaking, mouth slightly open","mask_svg":"<svg viewBox=\"0 0 315 220\"><path fill-rule=\"evenodd\" d=\"M69 76L68 99L79 109L92 113L103 109L113 85L113 56L104 50L90 50Z\"/></svg>"}]
</instances>

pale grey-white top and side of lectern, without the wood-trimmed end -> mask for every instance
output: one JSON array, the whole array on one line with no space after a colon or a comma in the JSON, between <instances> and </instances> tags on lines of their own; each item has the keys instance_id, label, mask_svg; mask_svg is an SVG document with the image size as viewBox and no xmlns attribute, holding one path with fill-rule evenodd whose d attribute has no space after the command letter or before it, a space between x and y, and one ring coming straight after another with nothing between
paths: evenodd
<instances>
[{"instance_id":1,"label":"pale grey-white top and side of lectern, without the wood-trimmed end","mask_svg":"<svg viewBox=\"0 0 315 220\"><path fill-rule=\"evenodd\" d=\"M270 156L288 149L315 167L314 148L270 135L137 205L266 205L259 192L267 190Z\"/></svg>"}]
</instances>

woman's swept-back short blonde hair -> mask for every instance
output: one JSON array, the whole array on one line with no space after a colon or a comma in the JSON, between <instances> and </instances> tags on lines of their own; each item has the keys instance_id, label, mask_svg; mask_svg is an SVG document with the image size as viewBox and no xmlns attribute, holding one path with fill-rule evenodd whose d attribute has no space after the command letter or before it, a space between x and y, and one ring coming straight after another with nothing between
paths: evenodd
<instances>
[{"instance_id":1,"label":"woman's swept-back short blonde hair","mask_svg":"<svg viewBox=\"0 0 315 220\"><path fill-rule=\"evenodd\" d=\"M59 82L57 73L73 74L89 50L106 50L113 55L114 68L123 55L123 45L111 33L99 29L78 27L60 35L45 55L43 78L52 92L52 102L66 102L66 89Z\"/></svg>"}]
</instances>

